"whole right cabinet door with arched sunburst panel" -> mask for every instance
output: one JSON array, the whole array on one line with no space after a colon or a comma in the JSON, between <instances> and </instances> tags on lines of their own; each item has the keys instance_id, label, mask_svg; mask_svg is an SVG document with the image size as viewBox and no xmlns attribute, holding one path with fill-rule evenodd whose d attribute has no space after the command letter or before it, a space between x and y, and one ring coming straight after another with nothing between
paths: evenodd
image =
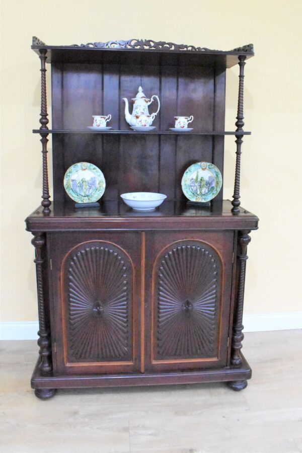
<instances>
[{"instance_id":1,"label":"whole right cabinet door with arched sunburst panel","mask_svg":"<svg viewBox=\"0 0 302 453\"><path fill-rule=\"evenodd\" d=\"M146 370L226 365L233 247L234 232L146 234Z\"/></svg>"}]
</instances>

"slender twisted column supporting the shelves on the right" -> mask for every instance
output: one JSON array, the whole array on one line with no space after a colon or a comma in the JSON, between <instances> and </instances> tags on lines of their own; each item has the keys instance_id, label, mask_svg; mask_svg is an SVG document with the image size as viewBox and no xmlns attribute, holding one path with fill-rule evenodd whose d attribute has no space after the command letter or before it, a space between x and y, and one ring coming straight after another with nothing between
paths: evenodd
<instances>
[{"instance_id":1,"label":"slender twisted column supporting the shelves on the right","mask_svg":"<svg viewBox=\"0 0 302 453\"><path fill-rule=\"evenodd\" d=\"M234 215L239 214L240 209L240 164L241 164L241 145L243 143L243 126L244 126L244 116L243 116L243 85L244 85L244 66L245 66L245 59L244 55L240 55L239 57L239 93L238 93L238 108L237 108L237 121L235 123L236 129L236 169L235 169L235 184L234 184L234 195L233 195L233 208L232 212Z\"/></svg>"}]
</instances>

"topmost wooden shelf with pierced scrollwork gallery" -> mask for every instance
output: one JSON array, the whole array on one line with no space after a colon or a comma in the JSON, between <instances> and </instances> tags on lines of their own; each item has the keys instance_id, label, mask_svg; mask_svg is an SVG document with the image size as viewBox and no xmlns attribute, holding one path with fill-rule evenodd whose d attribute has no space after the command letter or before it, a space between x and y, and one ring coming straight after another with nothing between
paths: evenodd
<instances>
[{"instance_id":1,"label":"topmost wooden shelf with pierced scrollwork gallery","mask_svg":"<svg viewBox=\"0 0 302 453\"><path fill-rule=\"evenodd\" d=\"M253 44L222 51L206 47L142 39L48 46L34 36L31 47L38 55L40 54L40 49L47 50L46 62L48 63L129 63L131 60L133 64L143 64L148 61L152 64L183 65L187 64L189 55L190 64L213 65L218 68L225 68L236 65L240 55L244 55L246 58L254 56Z\"/></svg>"}]
</instances>

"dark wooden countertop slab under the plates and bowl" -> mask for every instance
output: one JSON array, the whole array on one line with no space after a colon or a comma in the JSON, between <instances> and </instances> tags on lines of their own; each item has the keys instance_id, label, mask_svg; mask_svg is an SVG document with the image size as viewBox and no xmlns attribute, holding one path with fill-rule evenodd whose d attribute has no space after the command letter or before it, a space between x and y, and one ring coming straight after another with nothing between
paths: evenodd
<instances>
[{"instance_id":1,"label":"dark wooden countertop slab under the plates and bowl","mask_svg":"<svg viewBox=\"0 0 302 453\"><path fill-rule=\"evenodd\" d=\"M203 207L186 201L164 203L154 211L134 211L123 201L103 201L100 208L76 209L72 201L54 202L47 220L39 206L26 218L28 231L106 230L256 230L258 217L240 208L234 216L229 200Z\"/></svg>"}]
</instances>

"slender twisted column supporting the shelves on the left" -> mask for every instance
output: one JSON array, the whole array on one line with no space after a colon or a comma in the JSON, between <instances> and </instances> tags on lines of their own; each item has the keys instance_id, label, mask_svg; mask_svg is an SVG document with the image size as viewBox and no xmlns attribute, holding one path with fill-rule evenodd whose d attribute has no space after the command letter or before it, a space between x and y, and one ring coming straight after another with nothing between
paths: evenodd
<instances>
[{"instance_id":1,"label":"slender twisted column supporting the shelves on the left","mask_svg":"<svg viewBox=\"0 0 302 453\"><path fill-rule=\"evenodd\" d=\"M42 180L42 206L43 214L50 213L49 206L51 204L49 198L49 185L48 185L48 166L47 166L47 136L48 136L48 113L47 113L47 97L46 97L46 53L47 50L40 49L41 60L41 113L40 113L40 135L42 143L42 165L43 165L43 180Z\"/></svg>"}]
</instances>

